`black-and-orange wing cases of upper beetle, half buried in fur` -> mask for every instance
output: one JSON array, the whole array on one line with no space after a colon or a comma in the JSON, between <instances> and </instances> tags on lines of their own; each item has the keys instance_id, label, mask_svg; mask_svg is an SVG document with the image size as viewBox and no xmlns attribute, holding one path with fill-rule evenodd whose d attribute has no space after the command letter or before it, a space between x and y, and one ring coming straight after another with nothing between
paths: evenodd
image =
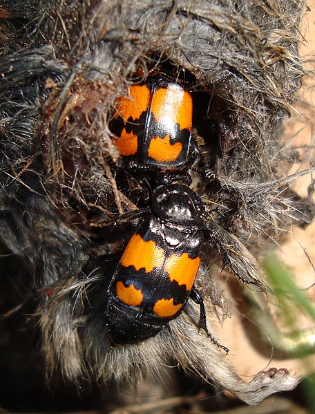
<instances>
[{"instance_id":1,"label":"black-and-orange wing cases of upper beetle, half buried in fur","mask_svg":"<svg viewBox=\"0 0 315 414\"><path fill-rule=\"evenodd\" d=\"M182 167L196 144L191 137L193 100L162 74L147 77L117 102L110 128L125 162L139 169Z\"/></svg>"}]
</instances>

